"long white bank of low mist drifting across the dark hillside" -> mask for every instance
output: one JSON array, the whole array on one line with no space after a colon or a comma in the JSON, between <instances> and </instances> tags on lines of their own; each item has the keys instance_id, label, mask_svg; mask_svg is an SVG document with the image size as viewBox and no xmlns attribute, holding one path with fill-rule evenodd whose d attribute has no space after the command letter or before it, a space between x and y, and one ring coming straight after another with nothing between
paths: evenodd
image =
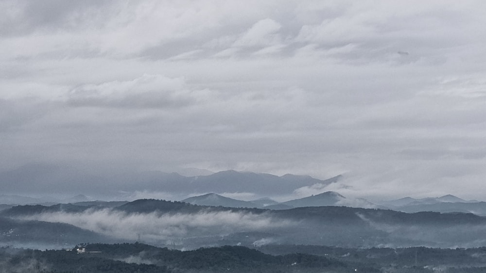
<instances>
[{"instance_id":1,"label":"long white bank of low mist drifting across the dark hillside","mask_svg":"<svg viewBox=\"0 0 486 273\"><path fill-rule=\"evenodd\" d=\"M112 209L88 209L81 213L54 212L22 219L75 225L123 240L171 241L190 237L222 236L295 225L267 214L202 211L191 214L125 213ZM147 225L150 223L150 225Z\"/></svg>"}]
</instances>

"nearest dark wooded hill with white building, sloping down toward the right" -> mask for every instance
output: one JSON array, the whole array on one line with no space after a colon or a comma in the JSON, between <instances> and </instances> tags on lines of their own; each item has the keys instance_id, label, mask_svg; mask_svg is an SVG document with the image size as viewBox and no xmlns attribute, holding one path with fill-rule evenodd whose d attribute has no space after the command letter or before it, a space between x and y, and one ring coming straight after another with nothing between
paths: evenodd
<instances>
[{"instance_id":1,"label":"nearest dark wooded hill with white building, sloping down toward the right","mask_svg":"<svg viewBox=\"0 0 486 273\"><path fill-rule=\"evenodd\" d=\"M78 253L79 252L79 253ZM273 256L241 246L169 250L140 243L87 244L66 250L0 248L2 268L10 272L77 273L220 273L220 272L360 272L379 273L379 267L309 254Z\"/></svg>"}]
</instances>

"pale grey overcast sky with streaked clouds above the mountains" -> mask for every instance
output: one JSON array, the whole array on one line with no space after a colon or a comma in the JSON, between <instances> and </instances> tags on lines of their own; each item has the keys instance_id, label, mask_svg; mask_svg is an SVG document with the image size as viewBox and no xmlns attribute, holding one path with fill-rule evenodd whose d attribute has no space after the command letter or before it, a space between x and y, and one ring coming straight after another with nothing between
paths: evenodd
<instances>
[{"instance_id":1,"label":"pale grey overcast sky with streaked clouds above the mountains","mask_svg":"<svg viewBox=\"0 0 486 273\"><path fill-rule=\"evenodd\" d=\"M2 0L0 172L342 174L305 190L486 200L485 8Z\"/></svg>"}]
</instances>

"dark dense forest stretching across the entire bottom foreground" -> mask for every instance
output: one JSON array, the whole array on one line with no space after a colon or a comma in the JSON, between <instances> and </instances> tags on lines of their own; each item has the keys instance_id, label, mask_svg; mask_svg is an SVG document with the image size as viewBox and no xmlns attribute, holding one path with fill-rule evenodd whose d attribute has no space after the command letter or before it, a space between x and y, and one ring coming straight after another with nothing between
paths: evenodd
<instances>
[{"instance_id":1,"label":"dark dense forest stretching across the entire bottom foreground","mask_svg":"<svg viewBox=\"0 0 486 273\"><path fill-rule=\"evenodd\" d=\"M312 245L222 246L180 251L143 243L83 243L64 250L0 248L1 272L479 273L486 248L352 249Z\"/></svg>"}]
</instances>

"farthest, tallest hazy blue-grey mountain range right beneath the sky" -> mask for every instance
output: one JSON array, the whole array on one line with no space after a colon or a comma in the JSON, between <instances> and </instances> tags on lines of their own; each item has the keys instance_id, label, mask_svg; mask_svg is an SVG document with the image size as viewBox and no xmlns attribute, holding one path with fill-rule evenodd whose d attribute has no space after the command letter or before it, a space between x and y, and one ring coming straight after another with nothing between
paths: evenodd
<instances>
[{"instance_id":1,"label":"farthest, tallest hazy blue-grey mountain range right beneath the sky","mask_svg":"<svg viewBox=\"0 0 486 273\"><path fill-rule=\"evenodd\" d=\"M286 174L275 176L265 173L237 172L218 173L190 169L185 174L206 174L183 176L178 173L159 171L116 172L100 174L69 166L28 164L17 169L0 172L2 193L51 194L84 193L97 196L114 196L120 192L164 192L164 193L258 193L260 195L281 195L293 193L296 189L336 182L341 176L326 180L310 176ZM69 181L69 183L67 183ZM79 200L88 201L88 200ZM1 202L0 200L0 203ZM4 202L12 203L12 202ZM36 203L21 202L23 204Z\"/></svg>"}]
</instances>

